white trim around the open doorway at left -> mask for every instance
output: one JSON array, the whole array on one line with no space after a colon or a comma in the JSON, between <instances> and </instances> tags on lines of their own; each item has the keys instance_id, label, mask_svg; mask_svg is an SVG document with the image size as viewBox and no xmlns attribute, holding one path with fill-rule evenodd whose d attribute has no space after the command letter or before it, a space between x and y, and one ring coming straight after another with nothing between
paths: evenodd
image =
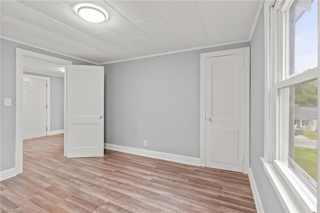
<instances>
[{"instance_id":1,"label":"white trim around the open doorway at left","mask_svg":"<svg viewBox=\"0 0 320 213\"><path fill-rule=\"evenodd\" d=\"M15 172L22 173L22 91L23 91L23 57L36 57L43 60L48 60L58 64L72 64L71 60L65 60L58 57L53 57L21 48L15 48ZM65 96L65 90L64 90ZM65 104L65 103L64 103ZM64 116L65 120L65 116Z\"/></svg>"}]
</instances>

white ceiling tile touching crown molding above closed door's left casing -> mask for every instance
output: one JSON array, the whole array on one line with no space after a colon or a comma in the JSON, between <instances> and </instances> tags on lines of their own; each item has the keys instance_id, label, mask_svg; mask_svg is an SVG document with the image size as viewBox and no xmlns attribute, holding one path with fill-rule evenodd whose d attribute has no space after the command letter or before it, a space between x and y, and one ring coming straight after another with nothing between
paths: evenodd
<instances>
[{"instance_id":1,"label":"white ceiling tile touching crown molding above closed door's left casing","mask_svg":"<svg viewBox=\"0 0 320 213\"><path fill-rule=\"evenodd\" d=\"M175 29L175 32L186 48L209 44L201 24Z\"/></svg>"}]
</instances>

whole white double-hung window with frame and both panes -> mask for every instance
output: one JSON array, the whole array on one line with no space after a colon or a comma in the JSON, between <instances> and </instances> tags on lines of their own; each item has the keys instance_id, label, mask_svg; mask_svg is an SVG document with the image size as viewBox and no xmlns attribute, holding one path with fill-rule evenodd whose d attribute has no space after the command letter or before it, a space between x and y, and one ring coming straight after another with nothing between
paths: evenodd
<instances>
[{"instance_id":1,"label":"whole white double-hung window with frame and both panes","mask_svg":"<svg viewBox=\"0 0 320 213\"><path fill-rule=\"evenodd\" d=\"M277 0L267 6L264 158L272 163L293 196L299 197L294 202L303 200L304 207L316 211L318 1Z\"/></svg>"}]
</instances>

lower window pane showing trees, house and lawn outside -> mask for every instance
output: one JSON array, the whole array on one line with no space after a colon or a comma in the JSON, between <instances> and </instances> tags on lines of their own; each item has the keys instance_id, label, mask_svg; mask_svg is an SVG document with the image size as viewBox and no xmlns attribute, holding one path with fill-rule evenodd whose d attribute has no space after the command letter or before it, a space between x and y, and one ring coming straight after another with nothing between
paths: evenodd
<instances>
[{"instance_id":1,"label":"lower window pane showing trees, house and lawn outside","mask_svg":"<svg viewBox=\"0 0 320 213\"><path fill-rule=\"evenodd\" d=\"M317 118L317 80L292 85L288 87L288 92L288 167L316 196L317 131L310 128L308 131L304 131L301 126L293 123L294 119L300 116L304 118L301 120L301 125L308 129L308 119ZM299 137L299 135L306 136Z\"/></svg>"}]
</instances>

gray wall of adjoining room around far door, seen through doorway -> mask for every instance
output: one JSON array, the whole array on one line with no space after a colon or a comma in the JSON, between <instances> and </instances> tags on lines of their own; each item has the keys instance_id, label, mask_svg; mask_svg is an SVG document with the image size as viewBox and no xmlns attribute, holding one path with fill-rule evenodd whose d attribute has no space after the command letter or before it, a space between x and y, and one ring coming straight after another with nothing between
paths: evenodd
<instances>
[{"instance_id":1,"label":"gray wall of adjoining room around far door, seen through doorway","mask_svg":"<svg viewBox=\"0 0 320 213\"><path fill-rule=\"evenodd\" d=\"M64 77L23 71L50 78L50 131L64 129Z\"/></svg>"}]
</instances>

